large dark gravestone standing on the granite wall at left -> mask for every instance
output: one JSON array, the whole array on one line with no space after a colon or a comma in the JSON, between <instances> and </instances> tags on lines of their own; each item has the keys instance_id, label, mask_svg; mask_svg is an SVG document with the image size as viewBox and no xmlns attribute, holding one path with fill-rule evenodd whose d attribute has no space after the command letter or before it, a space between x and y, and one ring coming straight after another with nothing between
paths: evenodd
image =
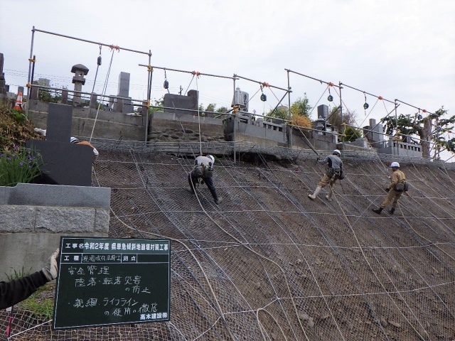
<instances>
[{"instance_id":1,"label":"large dark gravestone standing on the granite wall at left","mask_svg":"<svg viewBox=\"0 0 455 341\"><path fill-rule=\"evenodd\" d=\"M73 107L49 104L46 140L27 141L27 147L41 153L43 175L36 181L49 185L92 185L93 150L70 144Z\"/></svg>"}]
</instances>

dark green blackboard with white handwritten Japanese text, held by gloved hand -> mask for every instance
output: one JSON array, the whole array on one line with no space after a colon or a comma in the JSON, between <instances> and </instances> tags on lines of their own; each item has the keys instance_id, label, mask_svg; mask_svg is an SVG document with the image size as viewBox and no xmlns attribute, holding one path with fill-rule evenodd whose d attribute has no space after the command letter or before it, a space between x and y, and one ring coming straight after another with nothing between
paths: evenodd
<instances>
[{"instance_id":1,"label":"dark green blackboard with white handwritten Japanese text, held by gloved hand","mask_svg":"<svg viewBox=\"0 0 455 341\"><path fill-rule=\"evenodd\" d=\"M171 242L60 238L53 328L169 320Z\"/></svg>"}]
</instances>

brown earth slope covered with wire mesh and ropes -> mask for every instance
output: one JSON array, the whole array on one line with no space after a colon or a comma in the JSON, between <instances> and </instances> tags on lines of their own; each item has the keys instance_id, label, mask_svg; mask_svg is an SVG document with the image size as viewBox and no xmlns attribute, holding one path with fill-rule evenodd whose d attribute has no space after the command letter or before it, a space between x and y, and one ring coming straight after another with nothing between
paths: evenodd
<instances>
[{"instance_id":1,"label":"brown earth slope covered with wire mesh and ropes","mask_svg":"<svg viewBox=\"0 0 455 341\"><path fill-rule=\"evenodd\" d=\"M400 161L410 190L378 215L385 163L344 160L329 202L315 161L217 155L215 205L184 190L193 156L102 151L109 237L171 239L171 320L33 340L455 340L455 171Z\"/></svg>"}]
</instances>

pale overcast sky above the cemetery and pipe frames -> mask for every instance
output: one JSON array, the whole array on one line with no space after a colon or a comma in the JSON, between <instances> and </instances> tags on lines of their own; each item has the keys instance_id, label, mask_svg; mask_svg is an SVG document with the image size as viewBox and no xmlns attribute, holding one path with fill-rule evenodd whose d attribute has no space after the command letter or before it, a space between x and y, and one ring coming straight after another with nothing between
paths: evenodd
<instances>
[{"instance_id":1,"label":"pale overcast sky above the cemetery and pipe frames","mask_svg":"<svg viewBox=\"0 0 455 341\"><path fill-rule=\"evenodd\" d=\"M285 68L326 82L343 82L358 90L400 99L434 112L444 105L455 114L455 1L453 0L168 0L54 1L1 0L0 52L10 85L26 85L31 29L119 45L148 52L151 65L212 75L242 77L287 88ZM36 33L36 76L53 85L71 85L70 69L87 66L82 90L95 80L97 45ZM112 53L102 48L103 63L95 92L102 93ZM148 56L114 53L106 94L117 94L119 72L131 74L130 96L146 98ZM232 80L166 72L170 91L200 91L200 103L230 106ZM164 94L164 72L155 70L152 98ZM196 82L197 81L197 82ZM267 112L284 92L257 82L236 83L252 97L250 112ZM291 102L306 92L309 102L327 101L326 85L291 74ZM12 90L15 91L14 86ZM259 90L259 92L258 92ZM338 90L337 90L338 91ZM257 93L257 94L255 94ZM335 89L331 94L338 104ZM345 87L343 105L358 116L358 126L380 119L392 104ZM284 101L287 104L287 99ZM375 105L376 104L376 105ZM401 104L399 114L414 114ZM311 117L316 118L316 110Z\"/></svg>"}]
</instances>

